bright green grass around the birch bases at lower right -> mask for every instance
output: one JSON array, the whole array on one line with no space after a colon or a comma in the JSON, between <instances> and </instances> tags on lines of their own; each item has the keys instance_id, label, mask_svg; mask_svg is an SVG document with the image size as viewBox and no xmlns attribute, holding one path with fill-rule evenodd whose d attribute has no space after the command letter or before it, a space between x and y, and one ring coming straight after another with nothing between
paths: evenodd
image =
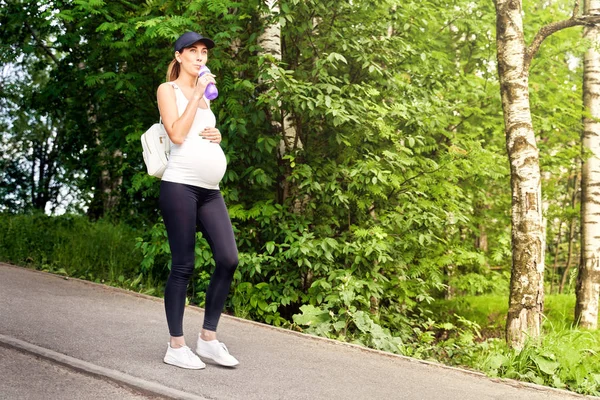
<instances>
[{"instance_id":1,"label":"bright green grass around the birch bases at lower right","mask_svg":"<svg viewBox=\"0 0 600 400\"><path fill-rule=\"evenodd\" d=\"M457 314L481 327L479 343L471 347L463 365L489 376L600 396L600 331L573 326L575 295L547 295L543 336L528 341L521 351L504 342L508 299L505 296L465 296L438 302L437 315Z\"/></svg>"}]
</instances>

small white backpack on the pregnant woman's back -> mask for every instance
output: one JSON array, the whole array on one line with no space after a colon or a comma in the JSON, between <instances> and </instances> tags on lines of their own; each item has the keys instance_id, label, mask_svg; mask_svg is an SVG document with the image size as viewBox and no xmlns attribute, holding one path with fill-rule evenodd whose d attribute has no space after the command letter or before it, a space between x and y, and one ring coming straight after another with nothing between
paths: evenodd
<instances>
[{"instance_id":1,"label":"small white backpack on the pregnant woman's back","mask_svg":"<svg viewBox=\"0 0 600 400\"><path fill-rule=\"evenodd\" d=\"M141 140L142 154L148 173L157 178L162 178L162 174L167 168L169 153L171 151L171 141L162 124L162 120L144 132Z\"/></svg>"}]
</instances>

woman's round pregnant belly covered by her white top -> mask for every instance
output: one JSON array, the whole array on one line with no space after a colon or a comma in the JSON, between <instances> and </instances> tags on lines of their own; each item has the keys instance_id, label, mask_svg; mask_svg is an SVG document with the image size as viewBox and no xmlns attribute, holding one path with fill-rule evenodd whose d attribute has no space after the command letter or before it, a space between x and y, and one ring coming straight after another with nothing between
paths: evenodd
<instances>
[{"instance_id":1,"label":"woman's round pregnant belly covered by her white top","mask_svg":"<svg viewBox=\"0 0 600 400\"><path fill-rule=\"evenodd\" d=\"M201 187L218 186L225 171L227 159L216 143L194 141L171 150L167 170L177 172L186 182Z\"/></svg>"}]
</instances>

